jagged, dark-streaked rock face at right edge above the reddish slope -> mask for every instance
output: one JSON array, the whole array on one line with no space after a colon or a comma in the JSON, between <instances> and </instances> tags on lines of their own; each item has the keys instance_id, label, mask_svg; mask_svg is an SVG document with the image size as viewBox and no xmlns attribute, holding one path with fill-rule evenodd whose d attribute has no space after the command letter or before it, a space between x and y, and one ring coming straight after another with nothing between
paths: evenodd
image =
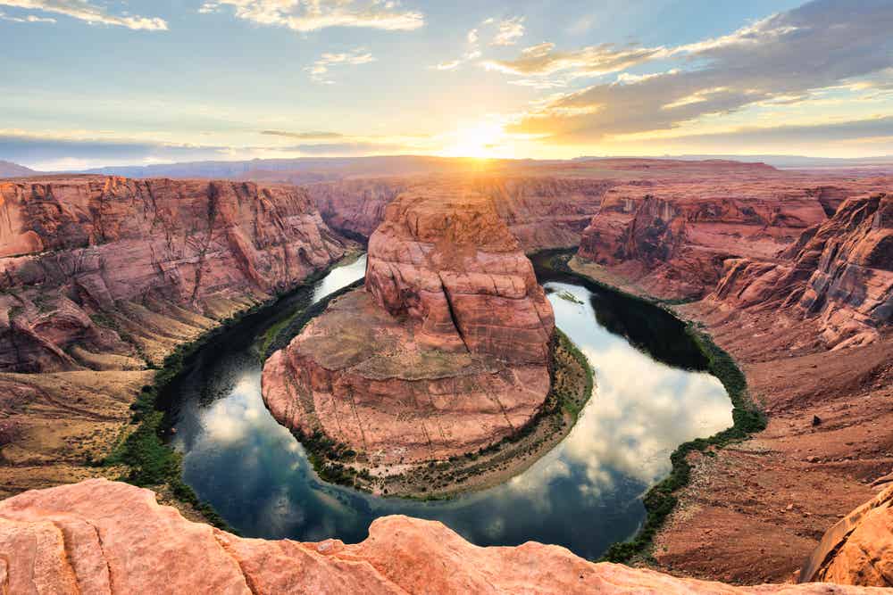
<instances>
[{"instance_id":1,"label":"jagged, dark-streaked rock face at right edge above the reddish slope","mask_svg":"<svg viewBox=\"0 0 893 595\"><path fill-rule=\"evenodd\" d=\"M877 340L893 320L893 196L848 199L779 260L728 261L709 299L814 319L829 347Z\"/></svg>"}]
</instances>

